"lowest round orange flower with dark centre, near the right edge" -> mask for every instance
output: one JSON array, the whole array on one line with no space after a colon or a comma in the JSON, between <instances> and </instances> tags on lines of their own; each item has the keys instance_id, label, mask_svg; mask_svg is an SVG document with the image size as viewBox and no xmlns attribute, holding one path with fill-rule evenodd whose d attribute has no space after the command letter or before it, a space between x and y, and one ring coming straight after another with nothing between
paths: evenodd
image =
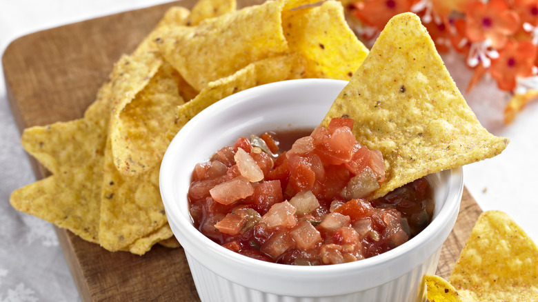
<instances>
[{"instance_id":1,"label":"lowest round orange flower with dark centre, near the right edge","mask_svg":"<svg viewBox=\"0 0 538 302\"><path fill-rule=\"evenodd\" d=\"M499 50L499 58L491 62L490 74L501 90L514 90L516 77L532 75L536 52L536 46L530 41L508 41Z\"/></svg>"}]
</instances>

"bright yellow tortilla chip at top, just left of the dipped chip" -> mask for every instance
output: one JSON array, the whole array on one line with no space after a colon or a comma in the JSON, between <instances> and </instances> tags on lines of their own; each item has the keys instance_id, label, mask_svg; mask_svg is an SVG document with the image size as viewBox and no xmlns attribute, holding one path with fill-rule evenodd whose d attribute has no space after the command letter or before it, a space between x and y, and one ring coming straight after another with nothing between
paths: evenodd
<instances>
[{"instance_id":1,"label":"bright yellow tortilla chip at top, just left of the dipped chip","mask_svg":"<svg viewBox=\"0 0 538 302\"><path fill-rule=\"evenodd\" d=\"M308 60L306 77L349 81L368 54L337 1L284 11L282 24L290 50Z\"/></svg>"}]
</instances>

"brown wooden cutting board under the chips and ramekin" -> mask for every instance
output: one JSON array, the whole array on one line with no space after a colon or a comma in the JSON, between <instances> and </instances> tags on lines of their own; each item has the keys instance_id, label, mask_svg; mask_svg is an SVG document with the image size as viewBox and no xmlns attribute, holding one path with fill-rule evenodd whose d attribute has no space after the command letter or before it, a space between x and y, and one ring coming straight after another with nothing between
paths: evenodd
<instances>
[{"instance_id":1,"label":"brown wooden cutting board under the chips and ramekin","mask_svg":"<svg viewBox=\"0 0 538 302\"><path fill-rule=\"evenodd\" d=\"M113 14L13 41L2 62L19 130L82 117L121 54L135 50L168 8L192 8L195 1ZM239 0L238 8L255 1ZM50 175L31 160L37 179ZM448 277L480 213L464 190L455 228L441 250L437 274ZM108 252L59 228L57 234L82 301L199 301L181 248L156 245L137 256Z\"/></svg>"}]
</instances>

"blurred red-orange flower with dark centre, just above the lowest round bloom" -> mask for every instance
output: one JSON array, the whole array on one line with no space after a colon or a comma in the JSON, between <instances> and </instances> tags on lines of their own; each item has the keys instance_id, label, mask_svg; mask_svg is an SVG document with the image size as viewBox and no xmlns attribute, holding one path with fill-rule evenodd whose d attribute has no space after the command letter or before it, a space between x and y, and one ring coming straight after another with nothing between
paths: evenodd
<instances>
[{"instance_id":1,"label":"blurred red-orange flower with dark centre, just above the lowest round bloom","mask_svg":"<svg viewBox=\"0 0 538 302\"><path fill-rule=\"evenodd\" d=\"M490 39L493 48L502 48L508 36L519 28L519 16L504 0L484 3L475 0L466 6L467 37L472 42Z\"/></svg>"}]
</instances>

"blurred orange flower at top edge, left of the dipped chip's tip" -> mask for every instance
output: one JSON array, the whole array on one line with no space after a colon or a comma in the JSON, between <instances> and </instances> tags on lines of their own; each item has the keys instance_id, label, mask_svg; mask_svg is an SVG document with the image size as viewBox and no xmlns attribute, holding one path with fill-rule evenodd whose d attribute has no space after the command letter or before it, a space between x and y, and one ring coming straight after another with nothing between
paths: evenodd
<instances>
[{"instance_id":1,"label":"blurred orange flower at top edge, left of the dipped chip's tip","mask_svg":"<svg viewBox=\"0 0 538 302\"><path fill-rule=\"evenodd\" d=\"M368 26L383 30L390 18L410 11L412 0L366 0L351 5L355 17Z\"/></svg>"}]
</instances>

